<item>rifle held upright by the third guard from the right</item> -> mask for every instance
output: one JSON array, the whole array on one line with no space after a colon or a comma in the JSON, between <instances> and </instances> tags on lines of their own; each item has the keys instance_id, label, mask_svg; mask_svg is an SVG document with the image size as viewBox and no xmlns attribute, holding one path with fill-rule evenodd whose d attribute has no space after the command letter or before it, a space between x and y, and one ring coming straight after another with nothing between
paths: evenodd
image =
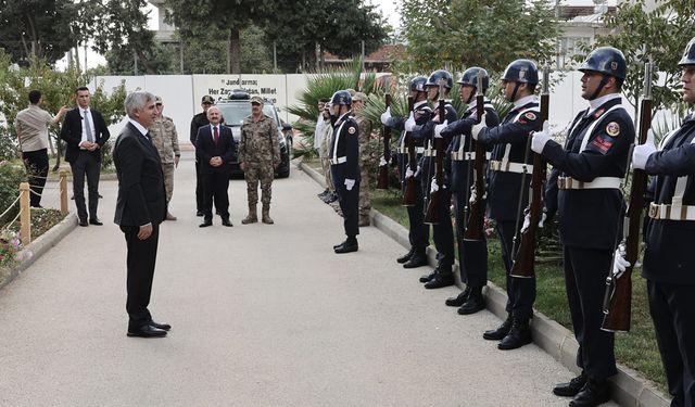
<instances>
[{"instance_id":1,"label":"rifle held upright by the third guard from the right","mask_svg":"<svg viewBox=\"0 0 695 407\"><path fill-rule=\"evenodd\" d=\"M477 84L478 94L476 96L476 114L478 115L478 123L482 120L482 115L485 113L485 96L482 93L482 74L478 73ZM463 136L462 136L463 137ZM466 207L470 207L470 216L464 230L464 240L481 241L484 239L484 207L482 198L485 191L484 179L484 165L485 165L485 149L481 142L478 142L470 138L470 142L476 150L476 160L473 161L475 173L475 191L476 200L470 204L466 204Z\"/></svg>"}]
</instances>

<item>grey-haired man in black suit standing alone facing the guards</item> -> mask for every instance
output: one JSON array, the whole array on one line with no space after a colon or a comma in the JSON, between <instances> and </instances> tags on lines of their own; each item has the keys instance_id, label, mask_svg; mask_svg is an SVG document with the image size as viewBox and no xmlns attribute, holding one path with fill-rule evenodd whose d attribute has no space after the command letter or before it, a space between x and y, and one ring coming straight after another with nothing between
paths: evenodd
<instances>
[{"instance_id":1,"label":"grey-haired man in black suit standing alone facing the guards","mask_svg":"<svg viewBox=\"0 0 695 407\"><path fill-rule=\"evenodd\" d=\"M113 162L118 176L114 222L121 226L128 249L128 336L162 338L172 327L154 322L148 310L160 224L166 217L162 163L148 130L156 117L154 96L132 92L125 106L128 124L116 140Z\"/></svg>"}]
</instances>

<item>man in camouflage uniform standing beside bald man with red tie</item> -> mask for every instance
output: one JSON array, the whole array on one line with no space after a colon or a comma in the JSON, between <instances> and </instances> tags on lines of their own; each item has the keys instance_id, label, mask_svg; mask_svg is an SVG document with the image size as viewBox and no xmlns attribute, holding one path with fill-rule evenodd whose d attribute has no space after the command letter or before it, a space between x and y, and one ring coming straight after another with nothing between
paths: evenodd
<instances>
[{"instance_id":1,"label":"man in camouflage uniform standing beside bald man with red tie","mask_svg":"<svg viewBox=\"0 0 695 407\"><path fill-rule=\"evenodd\" d=\"M263 114L263 99L251 98L251 115L241 125L239 141L239 166L244 171L247 193L249 198L249 215L241 222L258 221L256 204L258 203L258 181L261 181L261 203L263 204L262 221L271 225L270 194L275 168L280 165L280 143L278 125Z\"/></svg>"}]
</instances>

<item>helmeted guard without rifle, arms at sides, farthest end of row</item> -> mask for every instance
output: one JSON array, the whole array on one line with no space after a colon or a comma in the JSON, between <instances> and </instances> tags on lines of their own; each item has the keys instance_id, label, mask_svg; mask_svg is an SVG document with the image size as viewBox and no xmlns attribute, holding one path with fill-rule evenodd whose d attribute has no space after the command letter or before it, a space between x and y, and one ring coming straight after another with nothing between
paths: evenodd
<instances>
[{"instance_id":1,"label":"helmeted guard without rifle, arms at sides, farthest end of row","mask_svg":"<svg viewBox=\"0 0 695 407\"><path fill-rule=\"evenodd\" d=\"M338 202L343 213L348 239L333 246L336 253L356 252L359 234L359 127L352 117L352 97L339 90L331 98L331 122L333 135L330 148L330 170L333 177Z\"/></svg>"}]
</instances>

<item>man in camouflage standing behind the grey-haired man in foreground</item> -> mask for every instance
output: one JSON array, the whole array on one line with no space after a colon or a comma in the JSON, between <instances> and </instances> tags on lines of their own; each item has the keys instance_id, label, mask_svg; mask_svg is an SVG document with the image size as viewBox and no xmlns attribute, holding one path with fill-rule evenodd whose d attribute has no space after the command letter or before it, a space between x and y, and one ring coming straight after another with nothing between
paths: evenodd
<instances>
[{"instance_id":1,"label":"man in camouflage standing behind the grey-haired man in foreground","mask_svg":"<svg viewBox=\"0 0 695 407\"><path fill-rule=\"evenodd\" d=\"M172 201L172 194L174 193L174 169L178 167L181 151L178 149L178 135L176 133L174 120L163 115L164 103L162 102L162 98L155 98L155 106L156 117L154 118L152 127L150 127L150 136L162 160L166 204L168 207L168 203ZM172 215L168 209L166 212L166 220L176 220L176 216Z\"/></svg>"}]
</instances>

